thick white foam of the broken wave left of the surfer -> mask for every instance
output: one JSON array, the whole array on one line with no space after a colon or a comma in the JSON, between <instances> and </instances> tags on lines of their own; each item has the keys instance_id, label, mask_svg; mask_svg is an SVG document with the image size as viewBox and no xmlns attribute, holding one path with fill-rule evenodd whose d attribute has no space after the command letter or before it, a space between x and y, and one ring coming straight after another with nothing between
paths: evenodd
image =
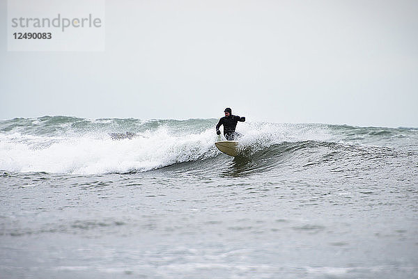
<instances>
[{"instance_id":1,"label":"thick white foam of the broken wave left of the surfer","mask_svg":"<svg viewBox=\"0 0 418 279\"><path fill-rule=\"evenodd\" d=\"M0 141L0 169L96 174L145 171L217 154L213 131L176 136L166 127L114 141L107 135L71 138L13 134Z\"/></svg>"}]
</instances>

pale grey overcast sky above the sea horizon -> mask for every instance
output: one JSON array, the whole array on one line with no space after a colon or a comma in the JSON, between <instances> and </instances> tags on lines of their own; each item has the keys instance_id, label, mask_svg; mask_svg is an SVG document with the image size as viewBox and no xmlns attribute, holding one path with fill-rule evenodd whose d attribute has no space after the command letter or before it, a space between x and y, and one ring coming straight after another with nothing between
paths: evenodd
<instances>
[{"instance_id":1,"label":"pale grey overcast sky above the sea horizon","mask_svg":"<svg viewBox=\"0 0 418 279\"><path fill-rule=\"evenodd\" d=\"M105 51L7 51L0 119L418 127L418 1L107 1Z\"/></svg>"}]
</instances>

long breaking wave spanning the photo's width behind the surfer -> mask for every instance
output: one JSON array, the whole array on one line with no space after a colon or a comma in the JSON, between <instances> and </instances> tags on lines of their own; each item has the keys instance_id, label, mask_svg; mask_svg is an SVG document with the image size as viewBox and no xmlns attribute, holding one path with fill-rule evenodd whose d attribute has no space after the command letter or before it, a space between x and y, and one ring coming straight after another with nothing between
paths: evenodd
<instances>
[{"instance_id":1,"label":"long breaking wave spanning the photo's width behind the surfer","mask_svg":"<svg viewBox=\"0 0 418 279\"><path fill-rule=\"evenodd\" d=\"M240 156L214 145L216 119L88 120L66 116L0 121L0 170L131 173L149 170L265 173L355 166L416 156L418 130L323 124L238 123ZM402 152L401 150L407 150ZM373 166L373 164L371 166Z\"/></svg>"}]
</instances>

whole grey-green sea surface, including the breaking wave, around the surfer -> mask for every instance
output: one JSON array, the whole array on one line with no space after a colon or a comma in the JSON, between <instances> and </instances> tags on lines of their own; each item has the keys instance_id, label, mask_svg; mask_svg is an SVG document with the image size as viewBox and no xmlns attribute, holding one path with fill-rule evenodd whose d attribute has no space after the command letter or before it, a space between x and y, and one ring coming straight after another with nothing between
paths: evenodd
<instances>
[{"instance_id":1,"label":"whole grey-green sea surface, including the breaking wave, around the surfer","mask_svg":"<svg viewBox=\"0 0 418 279\"><path fill-rule=\"evenodd\" d=\"M216 123L0 121L0 278L418 278L418 129Z\"/></svg>"}]
</instances>

